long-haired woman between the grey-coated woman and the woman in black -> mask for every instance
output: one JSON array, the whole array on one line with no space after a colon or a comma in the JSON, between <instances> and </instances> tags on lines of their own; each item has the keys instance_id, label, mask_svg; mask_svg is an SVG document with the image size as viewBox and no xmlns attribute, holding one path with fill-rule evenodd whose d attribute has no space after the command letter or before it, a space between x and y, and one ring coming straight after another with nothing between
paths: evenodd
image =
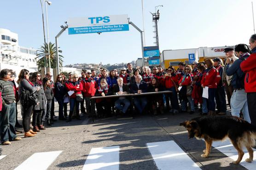
<instances>
[{"instance_id":1,"label":"long-haired woman between the grey-coated woman and the woman in black","mask_svg":"<svg viewBox=\"0 0 256 170\"><path fill-rule=\"evenodd\" d=\"M45 119L47 120L47 125L51 126L51 108L52 108L52 98L53 98L53 91L51 86L51 80L48 78L43 78L43 87L45 91L45 96L47 99L46 104L46 115L42 118L42 121L45 122Z\"/></svg>"}]
</instances>

